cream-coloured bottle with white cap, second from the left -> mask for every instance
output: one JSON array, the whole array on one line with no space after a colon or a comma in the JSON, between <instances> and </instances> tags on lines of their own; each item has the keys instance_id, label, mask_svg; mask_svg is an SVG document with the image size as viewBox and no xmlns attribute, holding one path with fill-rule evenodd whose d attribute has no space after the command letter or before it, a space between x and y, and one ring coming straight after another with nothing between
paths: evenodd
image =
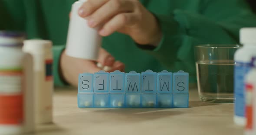
<instances>
[{"instance_id":1,"label":"cream-coloured bottle with white cap, second from the left","mask_svg":"<svg viewBox=\"0 0 256 135\"><path fill-rule=\"evenodd\" d=\"M26 40L23 51L33 56L36 124L53 121L53 53L49 40Z\"/></svg>"}]
</instances>

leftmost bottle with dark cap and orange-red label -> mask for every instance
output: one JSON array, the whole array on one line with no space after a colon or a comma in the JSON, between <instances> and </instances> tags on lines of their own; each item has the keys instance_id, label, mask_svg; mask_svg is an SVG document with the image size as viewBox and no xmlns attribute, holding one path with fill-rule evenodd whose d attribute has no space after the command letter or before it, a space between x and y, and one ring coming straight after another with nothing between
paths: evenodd
<instances>
[{"instance_id":1,"label":"leftmost bottle with dark cap and orange-red label","mask_svg":"<svg viewBox=\"0 0 256 135\"><path fill-rule=\"evenodd\" d=\"M25 35L0 32L0 134L34 130L33 58L22 51Z\"/></svg>"}]
</instances>

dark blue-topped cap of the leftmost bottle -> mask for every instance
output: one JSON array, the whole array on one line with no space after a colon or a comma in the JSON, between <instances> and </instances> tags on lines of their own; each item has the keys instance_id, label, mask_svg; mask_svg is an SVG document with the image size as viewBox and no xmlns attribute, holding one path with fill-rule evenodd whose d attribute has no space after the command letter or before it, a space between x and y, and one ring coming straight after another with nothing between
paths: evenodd
<instances>
[{"instance_id":1,"label":"dark blue-topped cap of the leftmost bottle","mask_svg":"<svg viewBox=\"0 0 256 135\"><path fill-rule=\"evenodd\" d=\"M21 46L25 37L23 32L0 31L0 46Z\"/></svg>"}]
</instances>

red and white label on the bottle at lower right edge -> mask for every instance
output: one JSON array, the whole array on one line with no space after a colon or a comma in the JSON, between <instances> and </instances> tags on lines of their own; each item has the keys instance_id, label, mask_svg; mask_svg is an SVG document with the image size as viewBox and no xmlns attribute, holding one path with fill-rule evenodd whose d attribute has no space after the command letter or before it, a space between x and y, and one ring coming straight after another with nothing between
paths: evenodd
<instances>
[{"instance_id":1,"label":"red and white label on the bottle at lower right edge","mask_svg":"<svg viewBox=\"0 0 256 135\"><path fill-rule=\"evenodd\" d=\"M246 84L246 130L253 129L253 85Z\"/></svg>"}]
</instances>

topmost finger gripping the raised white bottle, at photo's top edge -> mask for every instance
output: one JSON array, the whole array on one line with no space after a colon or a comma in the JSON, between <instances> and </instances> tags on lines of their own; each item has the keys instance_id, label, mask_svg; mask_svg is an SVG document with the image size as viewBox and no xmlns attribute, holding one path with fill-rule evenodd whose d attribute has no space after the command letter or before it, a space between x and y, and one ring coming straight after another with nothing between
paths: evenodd
<instances>
[{"instance_id":1,"label":"topmost finger gripping the raised white bottle, at photo's top edge","mask_svg":"<svg viewBox=\"0 0 256 135\"><path fill-rule=\"evenodd\" d=\"M99 7L104 5L108 0L87 0L78 10L78 14L81 17L86 17L92 14Z\"/></svg>"}]
</instances>

